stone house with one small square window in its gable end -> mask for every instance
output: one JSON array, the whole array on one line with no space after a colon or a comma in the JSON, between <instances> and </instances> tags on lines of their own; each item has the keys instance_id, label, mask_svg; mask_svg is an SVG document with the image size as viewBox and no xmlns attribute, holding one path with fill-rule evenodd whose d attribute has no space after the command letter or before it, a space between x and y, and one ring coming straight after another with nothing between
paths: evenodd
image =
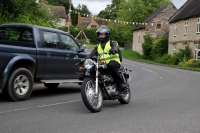
<instances>
[{"instance_id":1,"label":"stone house with one small square window in its gable end","mask_svg":"<svg viewBox=\"0 0 200 133\"><path fill-rule=\"evenodd\" d=\"M156 9L149 15L141 25L133 29L132 50L142 54L142 43L144 43L144 35L150 34L154 38L163 35L168 36L169 19L177 12L176 7L171 2L159 9Z\"/></svg>"}]
</instances>

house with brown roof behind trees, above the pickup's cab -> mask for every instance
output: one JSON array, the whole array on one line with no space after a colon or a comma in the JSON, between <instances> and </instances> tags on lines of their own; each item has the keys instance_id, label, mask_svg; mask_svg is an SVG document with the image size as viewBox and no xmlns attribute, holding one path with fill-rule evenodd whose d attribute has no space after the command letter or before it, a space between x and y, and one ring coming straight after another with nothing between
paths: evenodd
<instances>
[{"instance_id":1,"label":"house with brown roof behind trees, above the pickup's cab","mask_svg":"<svg viewBox=\"0 0 200 133\"><path fill-rule=\"evenodd\" d=\"M71 24L71 21L69 22L69 15L66 15L64 6L47 5L44 1L40 2L40 4L49 12L49 15L55 17L55 26L64 27Z\"/></svg>"}]
</instances>

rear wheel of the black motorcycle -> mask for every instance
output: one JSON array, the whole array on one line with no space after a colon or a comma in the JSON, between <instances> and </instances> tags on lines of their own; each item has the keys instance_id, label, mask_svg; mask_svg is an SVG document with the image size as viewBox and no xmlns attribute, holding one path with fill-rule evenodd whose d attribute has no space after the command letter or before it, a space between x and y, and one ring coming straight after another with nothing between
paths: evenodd
<instances>
[{"instance_id":1,"label":"rear wheel of the black motorcycle","mask_svg":"<svg viewBox=\"0 0 200 133\"><path fill-rule=\"evenodd\" d=\"M128 85L128 84L127 84ZM128 85L128 88L126 91L122 92L122 98L119 98L119 102L121 104L128 104L130 99L131 99L131 91L130 91L130 87Z\"/></svg>"}]
</instances>

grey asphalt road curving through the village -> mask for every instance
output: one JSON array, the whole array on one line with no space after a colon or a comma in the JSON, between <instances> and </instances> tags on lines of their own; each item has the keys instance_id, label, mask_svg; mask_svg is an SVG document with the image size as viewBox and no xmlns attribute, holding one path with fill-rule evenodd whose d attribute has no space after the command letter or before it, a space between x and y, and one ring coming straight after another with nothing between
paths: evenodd
<instances>
[{"instance_id":1,"label":"grey asphalt road curving through the village","mask_svg":"<svg viewBox=\"0 0 200 133\"><path fill-rule=\"evenodd\" d=\"M200 73L124 59L132 68L129 104L105 101L99 113L84 106L80 86L48 90L36 85L30 99L4 101L1 133L200 133Z\"/></svg>"}]
</instances>

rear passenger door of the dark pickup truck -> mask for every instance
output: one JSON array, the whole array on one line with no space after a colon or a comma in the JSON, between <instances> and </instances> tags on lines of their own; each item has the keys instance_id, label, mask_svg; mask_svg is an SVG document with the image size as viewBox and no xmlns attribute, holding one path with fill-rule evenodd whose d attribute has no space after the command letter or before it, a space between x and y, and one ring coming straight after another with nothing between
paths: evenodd
<instances>
[{"instance_id":1,"label":"rear passenger door of the dark pickup truck","mask_svg":"<svg viewBox=\"0 0 200 133\"><path fill-rule=\"evenodd\" d=\"M60 78L63 70L63 57L59 37L56 32L40 31L42 48L38 49L39 61L43 61L41 78Z\"/></svg>"}]
</instances>

